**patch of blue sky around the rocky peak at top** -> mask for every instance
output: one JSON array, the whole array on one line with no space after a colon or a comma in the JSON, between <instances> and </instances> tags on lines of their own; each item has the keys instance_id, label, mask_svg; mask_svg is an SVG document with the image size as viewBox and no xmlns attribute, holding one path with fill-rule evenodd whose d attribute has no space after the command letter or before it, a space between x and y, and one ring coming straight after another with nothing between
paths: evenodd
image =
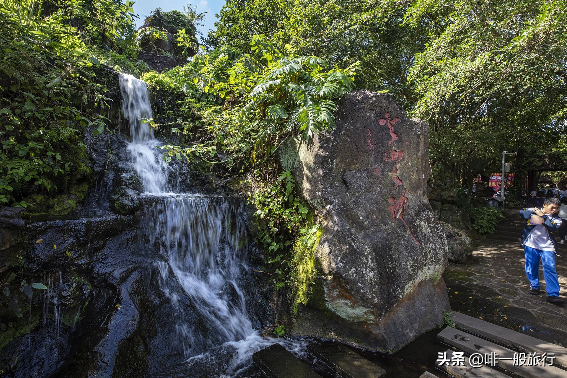
<instances>
[{"instance_id":1,"label":"patch of blue sky around the rocky peak at top","mask_svg":"<svg viewBox=\"0 0 567 378\"><path fill-rule=\"evenodd\" d=\"M157 7L160 7L166 12L174 9L183 12L183 7L187 4L196 7L197 14L207 12L205 15L205 26L200 28L200 35L206 35L210 29L214 28L213 24L217 20L214 15L225 5L225 0L138 0L134 4L134 14L137 13L139 16L136 20L136 27L141 27L145 16L150 15L150 12Z\"/></svg>"}]
</instances>

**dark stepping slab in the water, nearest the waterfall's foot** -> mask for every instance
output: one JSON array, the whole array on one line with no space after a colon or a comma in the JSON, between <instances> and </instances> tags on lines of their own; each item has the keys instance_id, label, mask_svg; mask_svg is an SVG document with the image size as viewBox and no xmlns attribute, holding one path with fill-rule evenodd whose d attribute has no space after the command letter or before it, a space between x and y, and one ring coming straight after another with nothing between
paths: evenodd
<instances>
[{"instance_id":1,"label":"dark stepping slab in the water, nearest the waterfall's foot","mask_svg":"<svg viewBox=\"0 0 567 378\"><path fill-rule=\"evenodd\" d=\"M257 351L252 360L269 378L322 378L277 343Z\"/></svg>"}]
</instances>

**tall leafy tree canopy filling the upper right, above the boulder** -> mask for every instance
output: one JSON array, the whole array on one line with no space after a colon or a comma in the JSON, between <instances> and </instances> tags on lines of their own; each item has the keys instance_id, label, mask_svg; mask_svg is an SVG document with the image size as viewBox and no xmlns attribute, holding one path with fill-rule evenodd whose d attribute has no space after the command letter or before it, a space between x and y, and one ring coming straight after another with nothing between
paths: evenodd
<instances>
[{"instance_id":1,"label":"tall leafy tree canopy filling the upper right, above the boulder","mask_svg":"<svg viewBox=\"0 0 567 378\"><path fill-rule=\"evenodd\" d=\"M388 90L428 121L434 171L457 172L470 193L477 174L500 171L503 148L517 151L520 182L526 162L565 164L566 7L533 0L228 0L208 43L246 50L252 35L263 33L300 54L360 61L357 87Z\"/></svg>"}]
</instances>

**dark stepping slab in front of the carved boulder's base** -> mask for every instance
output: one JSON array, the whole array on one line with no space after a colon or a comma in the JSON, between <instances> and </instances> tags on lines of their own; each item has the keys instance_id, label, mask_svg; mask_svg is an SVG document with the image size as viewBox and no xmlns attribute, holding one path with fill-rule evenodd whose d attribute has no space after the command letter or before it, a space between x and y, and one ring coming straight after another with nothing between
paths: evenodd
<instances>
[{"instance_id":1,"label":"dark stepping slab in front of the carved boulder's base","mask_svg":"<svg viewBox=\"0 0 567 378\"><path fill-rule=\"evenodd\" d=\"M343 378L379 378L386 371L341 343L312 345L309 350Z\"/></svg>"}]
</instances>

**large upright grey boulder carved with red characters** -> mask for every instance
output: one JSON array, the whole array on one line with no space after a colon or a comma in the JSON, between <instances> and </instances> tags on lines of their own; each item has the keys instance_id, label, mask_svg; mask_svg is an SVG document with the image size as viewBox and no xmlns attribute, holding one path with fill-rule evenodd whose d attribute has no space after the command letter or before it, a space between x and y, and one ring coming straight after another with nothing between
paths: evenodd
<instances>
[{"instance_id":1,"label":"large upright grey boulder carved with red characters","mask_svg":"<svg viewBox=\"0 0 567 378\"><path fill-rule=\"evenodd\" d=\"M335 129L284 146L281 163L323 228L294 334L395 351L442 325L447 241L426 198L428 138L390 95L356 91Z\"/></svg>"}]
</instances>

